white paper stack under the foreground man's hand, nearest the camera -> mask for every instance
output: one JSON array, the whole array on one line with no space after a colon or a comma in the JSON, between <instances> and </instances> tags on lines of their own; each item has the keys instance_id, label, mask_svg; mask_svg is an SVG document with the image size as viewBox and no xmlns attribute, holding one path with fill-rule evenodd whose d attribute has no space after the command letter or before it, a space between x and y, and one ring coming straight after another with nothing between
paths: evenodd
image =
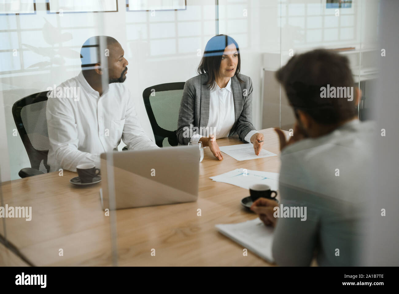
<instances>
[{"instance_id":1,"label":"white paper stack under the foreground man's hand, nearest the camera","mask_svg":"<svg viewBox=\"0 0 399 294\"><path fill-rule=\"evenodd\" d=\"M272 255L273 227L258 218L238 224L217 224L217 230L261 258L274 262Z\"/></svg>"}]
</instances>

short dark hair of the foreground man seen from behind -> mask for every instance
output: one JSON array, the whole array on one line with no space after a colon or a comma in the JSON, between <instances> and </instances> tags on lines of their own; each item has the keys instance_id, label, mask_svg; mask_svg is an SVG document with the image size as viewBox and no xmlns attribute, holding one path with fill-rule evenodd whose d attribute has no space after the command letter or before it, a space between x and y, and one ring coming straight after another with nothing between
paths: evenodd
<instances>
[{"instance_id":1,"label":"short dark hair of the foreground man seen from behind","mask_svg":"<svg viewBox=\"0 0 399 294\"><path fill-rule=\"evenodd\" d=\"M295 114L296 110L302 110L323 125L345 121L357 114L354 97L348 101L345 97L322 98L320 95L322 87L354 89L346 56L324 49L299 54L276 72L276 78L284 87Z\"/></svg>"}]
</instances>

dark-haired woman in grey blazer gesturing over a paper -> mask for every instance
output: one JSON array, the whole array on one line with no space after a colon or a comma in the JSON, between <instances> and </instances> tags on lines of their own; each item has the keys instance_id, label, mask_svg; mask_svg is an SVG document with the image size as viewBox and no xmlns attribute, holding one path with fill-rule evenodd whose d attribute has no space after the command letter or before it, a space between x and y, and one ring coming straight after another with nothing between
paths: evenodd
<instances>
[{"instance_id":1,"label":"dark-haired woman in grey blazer gesturing over a paper","mask_svg":"<svg viewBox=\"0 0 399 294\"><path fill-rule=\"evenodd\" d=\"M238 134L253 143L256 155L263 146L263 134L252 124L252 81L240 74L237 42L229 36L212 37L198 66L196 77L184 85L177 137L180 144L201 141L217 159L223 156L215 139Z\"/></svg>"}]
</instances>

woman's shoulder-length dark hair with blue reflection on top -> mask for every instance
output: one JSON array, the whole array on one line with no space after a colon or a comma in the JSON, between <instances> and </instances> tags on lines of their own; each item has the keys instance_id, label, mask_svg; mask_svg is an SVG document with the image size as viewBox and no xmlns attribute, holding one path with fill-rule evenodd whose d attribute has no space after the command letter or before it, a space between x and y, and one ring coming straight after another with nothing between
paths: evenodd
<instances>
[{"instance_id":1,"label":"woman's shoulder-length dark hair with blue reflection on top","mask_svg":"<svg viewBox=\"0 0 399 294\"><path fill-rule=\"evenodd\" d=\"M239 77L241 58L237 42L235 42L235 40L230 36L217 35L210 38L206 43L205 52L203 53L201 62L199 63L197 69L198 74L208 74L208 80L204 83L204 85L207 85L209 88L213 86L216 77L219 74L223 52L225 48L231 44L235 45L238 53L238 63L234 75L241 83L243 83L243 80Z\"/></svg>"}]
</instances>

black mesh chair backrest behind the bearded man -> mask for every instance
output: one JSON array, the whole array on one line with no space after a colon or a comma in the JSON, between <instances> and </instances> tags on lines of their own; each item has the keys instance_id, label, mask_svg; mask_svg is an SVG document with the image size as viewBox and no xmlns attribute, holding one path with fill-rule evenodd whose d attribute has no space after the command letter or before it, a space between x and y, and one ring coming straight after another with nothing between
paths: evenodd
<instances>
[{"instance_id":1,"label":"black mesh chair backrest behind the bearded man","mask_svg":"<svg viewBox=\"0 0 399 294\"><path fill-rule=\"evenodd\" d=\"M47 91L26 96L12 106L12 115L33 169L50 170L47 154L50 149L46 119Z\"/></svg>"}]
</instances>

